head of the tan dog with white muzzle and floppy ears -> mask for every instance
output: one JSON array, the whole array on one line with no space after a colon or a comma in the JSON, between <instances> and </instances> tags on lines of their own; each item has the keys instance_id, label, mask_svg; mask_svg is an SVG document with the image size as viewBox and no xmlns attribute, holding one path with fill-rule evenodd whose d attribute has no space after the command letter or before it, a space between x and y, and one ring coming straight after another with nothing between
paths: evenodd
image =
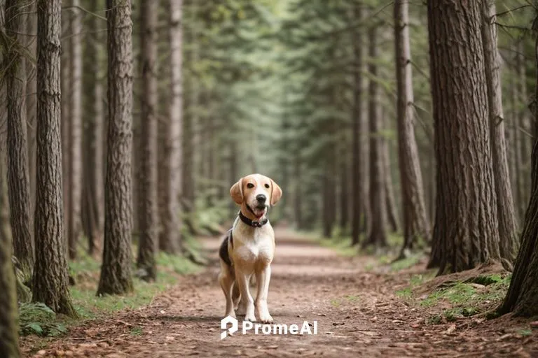
<instances>
[{"instance_id":1,"label":"head of the tan dog with white muzzle and floppy ears","mask_svg":"<svg viewBox=\"0 0 538 358\"><path fill-rule=\"evenodd\" d=\"M282 196L282 189L275 180L261 174L244 176L230 188L233 201L260 219ZM247 214L247 213L244 213Z\"/></svg>"}]
</instances>

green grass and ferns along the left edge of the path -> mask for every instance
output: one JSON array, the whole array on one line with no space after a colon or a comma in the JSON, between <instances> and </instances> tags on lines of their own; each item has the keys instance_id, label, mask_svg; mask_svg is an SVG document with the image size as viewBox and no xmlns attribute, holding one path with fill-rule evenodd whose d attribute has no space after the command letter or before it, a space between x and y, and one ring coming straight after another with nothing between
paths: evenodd
<instances>
[{"instance_id":1,"label":"green grass and ferns along the left edge of the path","mask_svg":"<svg viewBox=\"0 0 538 358\"><path fill-rule=\"evenodd\" d=\"M76 285L70 287L71 299L78 313L78 319L57 316L42 303L27 303L20 306L20 334L38 336L57 336L64 334L67 327L81 320L92 320L125 308L139 308L149 304L160 292L172 287L180 275L200 270L184 257L160 253L157 256L157 280L145 282L133 278L134 292L121 296L95 295L99 282L100 262L85 252L69 263L69 273L75 278ZM133 269L133 272L135 269Z\"/></svg>"}]
</instances>

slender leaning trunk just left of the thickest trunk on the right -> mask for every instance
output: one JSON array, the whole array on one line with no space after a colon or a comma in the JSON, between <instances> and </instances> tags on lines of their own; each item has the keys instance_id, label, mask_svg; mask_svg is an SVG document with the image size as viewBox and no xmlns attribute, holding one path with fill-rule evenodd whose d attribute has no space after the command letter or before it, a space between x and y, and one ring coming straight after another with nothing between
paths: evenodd
<instances>
[{"instance_id":1,"label":"slender leaning trunk just left of the thickest trunk on the right","mask_svg":"<svg viewBox=\"0 0 538 358\"><path fill-rule=\"evenodd\" d=\"M429 241L429 221L422 185L422 172L415 140L415 99L409 39L408 0L394 2L394 43L396 53L396 111L398 159L403 209L403 246L400 258Z\"/></svg>"}]
</instances>

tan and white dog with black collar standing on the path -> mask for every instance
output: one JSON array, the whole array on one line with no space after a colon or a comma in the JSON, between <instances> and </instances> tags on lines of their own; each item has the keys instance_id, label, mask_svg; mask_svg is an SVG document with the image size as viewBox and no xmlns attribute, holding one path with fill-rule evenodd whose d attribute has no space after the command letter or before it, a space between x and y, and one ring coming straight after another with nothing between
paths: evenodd
<instances>
[{"instance_id":1,"label":"tan and white dog with black collar standing on the path","mask_svg":"<svg viewBox=\"0 0 538 358\"><path fill-rule=\"evenodd\" d=\"M219 283L226 298L226 316L244 314L250 322L271 323L267 306L271 262L275 255L275 232L267 218L268 209L282 197L275 180L251 174L230 188L230 196L241 210L219 250ZM256 278L256 301L249 290ZM226 317L225 316L225 317Z\"/></svg>"}]
</instances>

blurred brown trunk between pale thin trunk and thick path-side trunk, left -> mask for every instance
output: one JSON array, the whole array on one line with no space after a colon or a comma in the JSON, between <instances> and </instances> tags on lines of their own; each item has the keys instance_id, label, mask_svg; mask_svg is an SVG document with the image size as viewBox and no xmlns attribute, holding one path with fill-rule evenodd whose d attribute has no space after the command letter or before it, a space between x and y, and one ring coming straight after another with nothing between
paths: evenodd
<instances>
[{"instance_id":1,"label":"blurred brown trunk between pale thin trunk and thick path-side trunk, left","mask_svg":"<svg viewBox=\"0 0 538 358\"><path fill-rule=\"evenodd\" d=\"M90 11L97 13L102 9L102 1L92 1ZM85 119L85 166L84 166L84 211L88 252L90 255L101 253L104 227L104 175L103 175L103 141L104 141L104 101L102 84L103 36L99 33L99 17L92 16L88 24L90 41L85 48L85 66L88 71L87 101L88 110Z\"/></svg>"}]
</instances>

